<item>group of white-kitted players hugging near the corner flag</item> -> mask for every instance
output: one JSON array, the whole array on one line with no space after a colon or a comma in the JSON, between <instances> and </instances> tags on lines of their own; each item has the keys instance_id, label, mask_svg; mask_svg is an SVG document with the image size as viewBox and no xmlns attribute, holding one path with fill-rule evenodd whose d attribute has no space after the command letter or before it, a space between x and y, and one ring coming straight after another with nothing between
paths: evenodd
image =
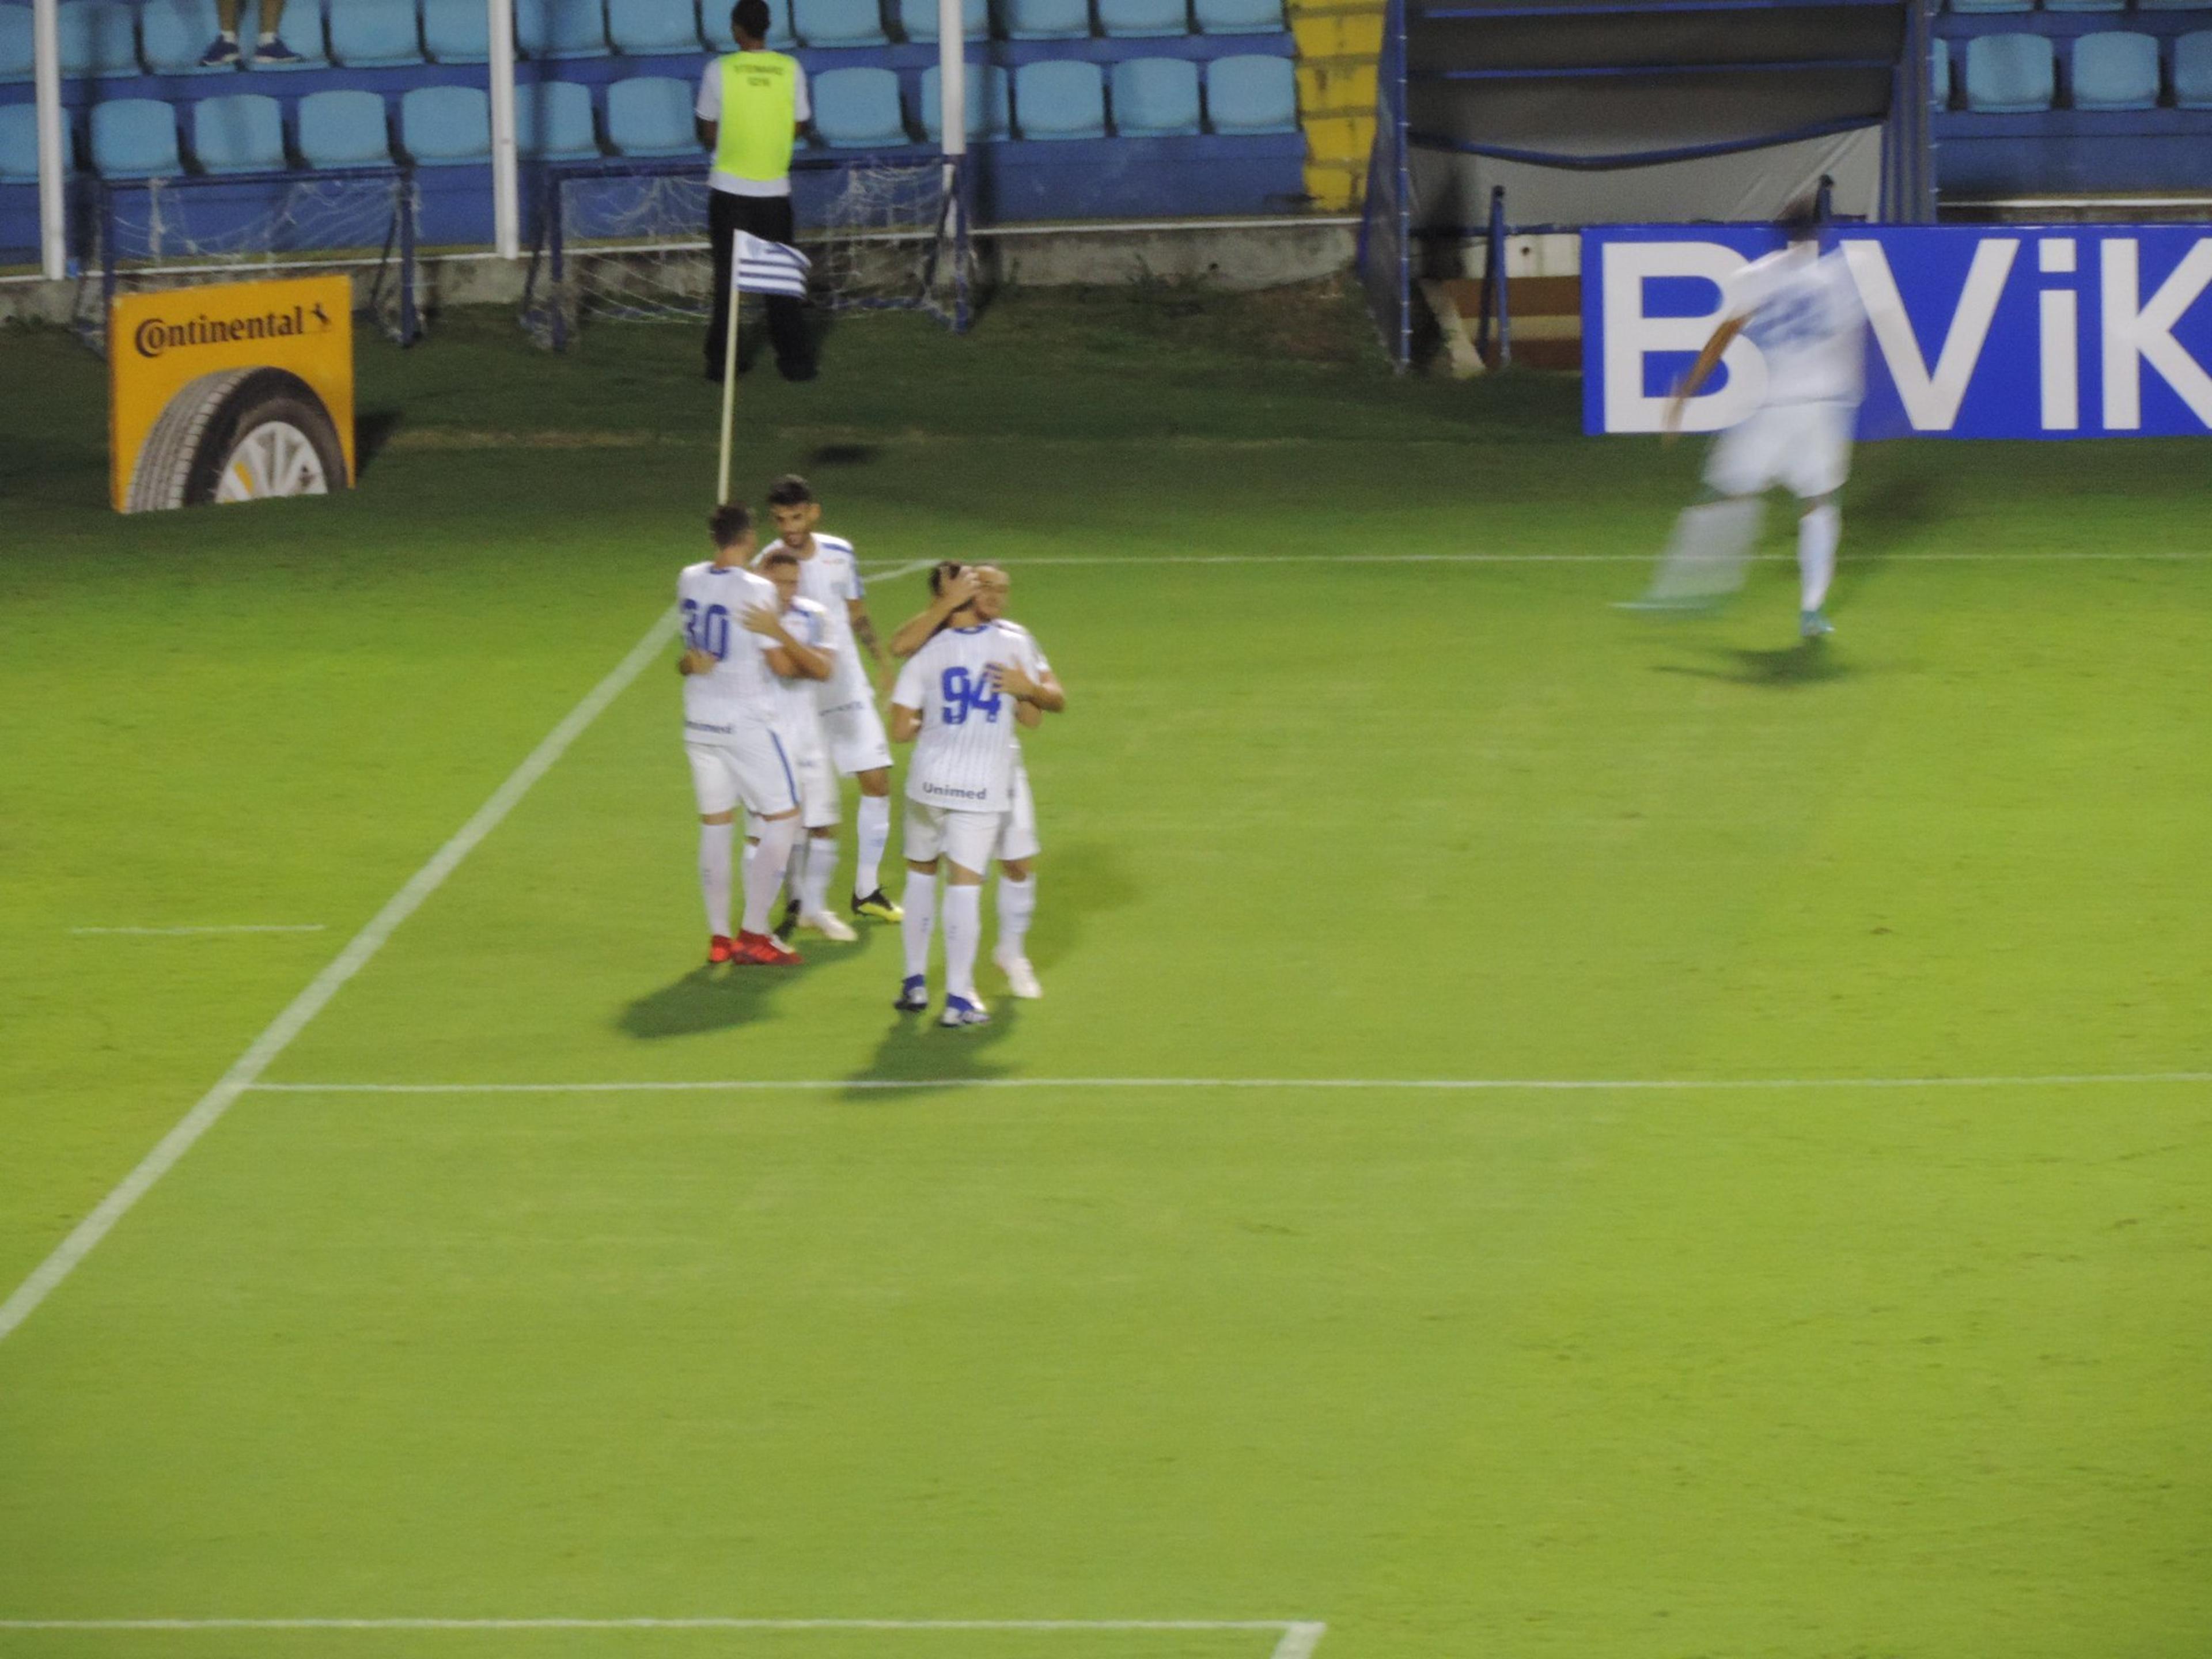
<instances>
[{"instance_id":1,"label":"group of white-kitted players hugging near the corner flag","mask_svg":"<svg viewBox=\"0 0 2212 1659\"><path fill-rule=\"evenodd\" d=\"M1009 622L1006 573L945 562L929 573L929 606L878 644L852 542L823 535L807 480L768 491L776 540L765 549L752 513L726 502L708 518L714 557L677 577L684 626L684 752L699 799L699 887L708 962L794 967L801 958L770 929L856 938L830 907L838 865L841 776L856 779L858 865L852 914L898 922L905 978L898 1006L929 1009L929 940L942 914L947 1026L989 1024L975 991L982 883L993 860L998 945L991 960L1018 998L1042 995L1024 951L1037 907L1037 812L1018 726L1066 708L1066 695L1029 630ZM876 712L876 675L898 661L891 730ZM907 768L907 883L898 905L883 891L891 838L891 739L914 743ZM737 812L745 812L743 909L730 931L737 885ZM938 867L947 883L938 894Z\"/></svg>"}]
</instances>

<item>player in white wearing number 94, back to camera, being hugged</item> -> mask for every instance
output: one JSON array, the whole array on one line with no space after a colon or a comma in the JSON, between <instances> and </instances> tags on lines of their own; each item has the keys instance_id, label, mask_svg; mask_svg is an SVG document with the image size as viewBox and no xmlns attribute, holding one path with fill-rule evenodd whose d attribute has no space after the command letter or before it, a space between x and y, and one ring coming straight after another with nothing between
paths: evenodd
<instances>
[{"instance_id":1,"label":"player in white wearing number 94, back to camera, being hugged","mask_svg":"<svg viewBox=\"0 0 2212 1659\"><path fill-rule=\"evenodd\" d=\"M947 617L947 626L898 670L891 688L891 737L914 741L907 768L907 975L894 1006L929 1006L929 933L938 909L938 863L949 865L945 887L945 1015L947 1026L991 1020L975 991L975 949L982 940L982 878L991 858L1022 863L1035 856L1035 821L1015 821L1020 779L1015 726L1035 726L1066 708L1066 692L1051 664L1020 624L1006 622L1009 582L998 566L969 566L975 591ZM960 571L956 571L960 573ZM940 586L945 571L940 566ZM1026 834L1015 852L1011 841ZM1029 929L1035 889L1020 883L1022 909L1013 927L1015 951ZM1006 889L1000 887L1000 967L1015 995L1035 995L1026 958L1006 956ZM1026 991L1011 962L1020 962Z\"/></svg>"}]
</instances>

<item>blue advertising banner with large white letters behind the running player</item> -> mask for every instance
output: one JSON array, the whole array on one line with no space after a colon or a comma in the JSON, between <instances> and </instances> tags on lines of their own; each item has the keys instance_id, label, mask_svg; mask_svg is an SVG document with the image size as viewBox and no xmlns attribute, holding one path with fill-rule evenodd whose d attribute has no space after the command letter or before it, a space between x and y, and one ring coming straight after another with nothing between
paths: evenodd
<instances>
[{"instance_id":1,"label":"blue advertising banner with large white letters behind the running player","mask_svg":"<svg viewBox=\"0 0 2212 1659\"><path fill-rule=\"evenodd\" d=\"M1582 427L1659 431L1767 226L1582 232ZM2212 431L2212 234L2199 226L1838 226L1867 307L1860 438L2159 438ZM1765 392L1739 336L1692 398L1719 431Z\"/></svg>"}]
</instances>

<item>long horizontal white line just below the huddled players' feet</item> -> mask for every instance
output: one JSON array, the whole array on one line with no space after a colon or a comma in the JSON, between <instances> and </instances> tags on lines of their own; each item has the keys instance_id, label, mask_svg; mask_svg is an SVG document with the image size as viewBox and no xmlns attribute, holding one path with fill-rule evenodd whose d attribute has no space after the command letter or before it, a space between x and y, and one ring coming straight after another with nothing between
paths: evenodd
<instances>
[{"instance_id":1,"label":"long horizontal white line just below the huddled players' feet","mask_svg":"<svg viewBox=\"0 0 2212 1659\"><path fill-rule=\"evenodd\" d=\"M723 1095L818 1088L1427 1088L1606 1093L1743 1088L2095 1088L2212 1084L2212 1071L2064 1071L2020 1077L726 1077L597 1084L248 1084L261 1095Z\"/></svg>"}]
</instances>

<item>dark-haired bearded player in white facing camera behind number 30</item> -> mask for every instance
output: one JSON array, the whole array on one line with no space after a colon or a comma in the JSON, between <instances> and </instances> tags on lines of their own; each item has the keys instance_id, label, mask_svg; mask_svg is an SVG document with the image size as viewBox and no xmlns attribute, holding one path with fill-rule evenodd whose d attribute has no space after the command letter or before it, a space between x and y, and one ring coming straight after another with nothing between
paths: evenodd
<instances>
[{"instance_id":1,"label":"dark-haired bearded player in white facing camera behind number 30","mask_svg":"<svg viewBox=\"0 0 2212 1659\"><path fill-rule=\"evenodd\" d=\"M768 513L776 522L776 540L761 551L761 560L776 551L796 555L799 593L830 613L830 646L836 650L836 670L816 686L814 697L823 719L823 741L830 748L830 765L841 776L860 783L860 805L854 814L852 914L896 922L898 905L883 896L883 852L891 843L891 745L885 741L883 717L876 714L876 690L860 664L860 653L869 655L878 672L889 664L876 644L876 626L867 617L860 566L854 560L852 542L816 531L823 509L805 478L785 473L770 484ZM805 880L827 894L830 874L836 869L836 836L827 841L810 836L803 852ZM825 905L814 909L825 909Z\"/></svg>"}]
</instances>

